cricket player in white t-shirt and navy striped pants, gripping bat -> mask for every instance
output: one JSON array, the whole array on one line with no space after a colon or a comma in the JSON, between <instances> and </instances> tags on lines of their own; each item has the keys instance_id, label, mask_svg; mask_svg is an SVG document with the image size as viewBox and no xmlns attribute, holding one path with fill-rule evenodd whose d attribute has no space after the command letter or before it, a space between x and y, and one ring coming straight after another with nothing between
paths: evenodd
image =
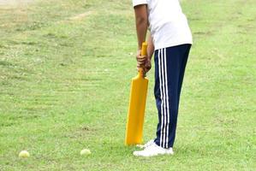
<instances>
[{"instance_id":1,"label":"cricket player in white t-shirt and navy striped pants, gripping bat","mask_svg":"<svg viewBox=\"0 0 256 171\"><path fill-rule=\"evenodd\" d=\"M176 124L182 81L191 47L192 35L179 0L133 0L138 38L137 67L146 74L155 62L154 95L158 108L156 138L134 151L134 156L174 154ZM147 56L141 56L146 40Z\"/></svg>"}]
</instances>

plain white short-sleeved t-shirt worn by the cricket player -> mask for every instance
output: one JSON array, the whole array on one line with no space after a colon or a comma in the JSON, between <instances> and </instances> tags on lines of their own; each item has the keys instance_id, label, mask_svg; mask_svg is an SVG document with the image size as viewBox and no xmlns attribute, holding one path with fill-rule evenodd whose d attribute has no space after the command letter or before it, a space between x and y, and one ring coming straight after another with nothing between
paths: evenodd
<instances>
[{"instance_id":1,"label":"plain white short-sleeved t-shirt worn by the cricket player","mask_svg":"<svg viewBox=\"0 0 256 171\"><path fill-rule=\"evenodd\" d=\"M140 4L147 4L149 30L155 50L193 43L179 0L133 0L134 7Z\"/></svg>"}]
</instances>

